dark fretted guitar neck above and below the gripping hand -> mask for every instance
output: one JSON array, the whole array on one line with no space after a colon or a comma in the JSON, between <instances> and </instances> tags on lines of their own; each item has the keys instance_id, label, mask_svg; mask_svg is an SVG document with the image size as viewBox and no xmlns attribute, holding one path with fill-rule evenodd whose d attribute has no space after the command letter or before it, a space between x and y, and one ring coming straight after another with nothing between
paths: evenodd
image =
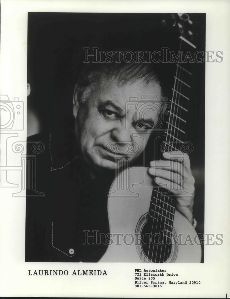
<instances>
[{"instance_id":1,"label":"dark fretted guitar neck above and below the gripping hand","mask_svg":"<svg viewBox=\"0 0 230 299\"><path fill-rule=\"evenodd\" d=\"M182 51L182 59L186 59L190 54L192 55L196 48L191 42L180 38L180 50ZM189 54L188 54L189 53ZM189 59L188 59L189 60ZM171 88L171 105L169 117L167 120L167 130L165 130L165 146L166 152L182 151L185 146L185 127L186 115L188 114L188 103L191 101L191 88L192 88L193 65L189 62L177 62L176 73L173 76L174 82ZM167 196L163 188L153 188L149 216L156 227L172 233L173 220L175 213L175 201ZM160 217L159 217L160 216ZM157 222L163 223L161 226Z\"/></svg>"}]
</instances>

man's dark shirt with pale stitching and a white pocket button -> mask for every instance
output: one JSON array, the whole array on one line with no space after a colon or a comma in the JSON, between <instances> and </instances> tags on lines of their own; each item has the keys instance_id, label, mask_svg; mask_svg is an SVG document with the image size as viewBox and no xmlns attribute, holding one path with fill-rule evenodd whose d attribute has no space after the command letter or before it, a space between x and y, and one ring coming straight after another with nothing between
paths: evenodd
<instances>
[{"instance_id":1,"label":"man's dark shirt with pale stitching and a white pocket button","mask_svg":"<svg viewBox=\"0 0 230 299\"><path fill-rule=\"evenodd\" d=\"M44 151L33 167L37 143ZM98 262L107 249L98 236L109 233L106 192L113 177L92 179L76 144L66 146L50 134L29 137L25 261Z\"/></svg>"}]
</instances>

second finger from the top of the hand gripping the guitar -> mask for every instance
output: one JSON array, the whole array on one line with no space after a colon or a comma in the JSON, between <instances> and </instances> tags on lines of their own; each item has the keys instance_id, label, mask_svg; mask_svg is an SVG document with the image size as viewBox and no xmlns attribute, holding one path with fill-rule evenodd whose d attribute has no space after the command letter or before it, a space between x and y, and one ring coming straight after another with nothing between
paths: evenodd
<instances>
[{"instance_id":1,"label":"second finger from the top of the hand gripping the guitar","mask_svg":"<svg viewBox=\"0 0 230 299\"><path fill-rule=\"evenodd\" d=\"M151 166L150 170L154 170L154 169L168 170L174 173L178 173L179 175L185 177L185 179L187 179L189 176L184 165L179 162L174 162L171 160L151 161L150 166Z\"/></svg>"}]
</instances>

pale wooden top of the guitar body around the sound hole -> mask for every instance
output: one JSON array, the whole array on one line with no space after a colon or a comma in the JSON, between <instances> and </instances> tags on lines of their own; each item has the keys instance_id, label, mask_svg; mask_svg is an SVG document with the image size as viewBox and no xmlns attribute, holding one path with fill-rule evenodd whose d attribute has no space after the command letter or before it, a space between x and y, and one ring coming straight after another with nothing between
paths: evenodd
<instances>
[{"instance_id":1,"label":"pale wooden top of the guitar body around the sound hole","mask_svg":"<svg viewBox=\"0 0 230 299\"><path fill-rule=\"evenodd\" d=\"M134 241L147 221L152 184L153 179L148 175L147 167L130 167L115 178L108 198L111 244L100 262L154 262L154 258L150 261L144 254L140 242ZM119 242L116 234L122 234ZM171 245L171 254L165 262L199 263L199 238L188 219L177 210L174 214L173 236L174 240L180 238Z\"/></svg>"}]
</instances>

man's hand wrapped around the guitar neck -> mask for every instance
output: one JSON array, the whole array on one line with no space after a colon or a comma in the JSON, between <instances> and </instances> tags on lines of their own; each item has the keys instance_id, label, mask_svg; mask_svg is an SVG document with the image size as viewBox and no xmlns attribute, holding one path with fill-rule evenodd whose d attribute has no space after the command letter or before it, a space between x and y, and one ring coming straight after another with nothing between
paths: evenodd
<instances>
[{"instance_id":1,"label":"man's hand wrapped around the guitar neck","mask_svg":"<svg viewBox=\"0 0 230 299\"><path fill-rule=\"evenodd\" d=\"M177 158L178 157L178 158ZM183 159L182 159L183 157ZM176 196L175 208L193 222L194 177L189 156L180 151L163 153L164 161L151 161L149 174L155 182Z\"/></svg>"}]
</instances>

